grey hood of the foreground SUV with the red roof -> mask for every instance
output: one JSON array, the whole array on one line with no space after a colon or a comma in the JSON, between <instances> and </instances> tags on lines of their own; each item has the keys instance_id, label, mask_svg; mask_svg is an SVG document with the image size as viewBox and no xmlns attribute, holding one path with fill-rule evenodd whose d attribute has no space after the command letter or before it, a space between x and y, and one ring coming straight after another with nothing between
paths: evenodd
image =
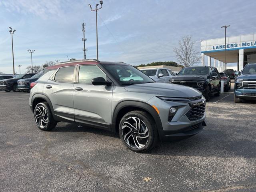
<instances>
[{"instance_id":1,"label":"grey hood of the foreground SUV with the red roof","mask_svg":"<svg viewBox=\"0 0 256 192\"><path fill-rule=\"evenodd\" d=\"M201 95L201 92L194 88L168 83L135 84L125 86L124 88L130 92L154 94L163 97L188 98Z\"/></svg>"}]
</instances>

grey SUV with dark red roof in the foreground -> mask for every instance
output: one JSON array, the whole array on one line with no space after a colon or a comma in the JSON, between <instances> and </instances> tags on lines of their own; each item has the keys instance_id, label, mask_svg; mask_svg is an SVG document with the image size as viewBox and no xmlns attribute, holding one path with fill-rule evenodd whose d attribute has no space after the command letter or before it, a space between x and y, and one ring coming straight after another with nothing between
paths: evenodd
<instances>
[{"instance_id":1,"label":"grey SUV with dark red roof in the foreground","mask_svg":"<svg viewBox=\"0 0 256 192\"><path fill-rule=\"evenodd\" d=\"M119 132L124 145L136 152L206 126L205 99L198 90L157 83L122 62L56 64L30 86L29 104L41 130L60 121L102 128Z\"/></svg>"}]
</instances>

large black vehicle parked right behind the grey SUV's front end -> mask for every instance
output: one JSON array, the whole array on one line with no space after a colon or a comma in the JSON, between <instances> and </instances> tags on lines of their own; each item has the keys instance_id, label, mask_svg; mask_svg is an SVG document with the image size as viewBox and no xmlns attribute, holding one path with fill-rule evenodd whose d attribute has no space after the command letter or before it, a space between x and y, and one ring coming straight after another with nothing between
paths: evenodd
<instances>
[{"instance_id":1,"label":"large black vehicle parked right behind the grey SUV's front end","mask_svg":"<svg viewBox=\"0 0 256 192\"><path fill-rule=\"evenodd\" d=\"M212 94L220 96L220 74L215 67L196 66L185 67L168 83L190 86L202 92L206 101Z\"/></svg>"}]
</instances>

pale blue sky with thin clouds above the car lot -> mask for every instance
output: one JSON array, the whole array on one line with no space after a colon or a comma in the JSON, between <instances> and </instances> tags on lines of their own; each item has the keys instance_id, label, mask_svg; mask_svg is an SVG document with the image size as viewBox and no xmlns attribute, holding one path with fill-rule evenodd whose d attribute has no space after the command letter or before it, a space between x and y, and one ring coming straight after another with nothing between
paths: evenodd
<instances>
[{"instance_id":1,"label":"pale blue sky with thin clouds above the car lot","mask_svg":"<svg viewBox=\"0 0 256 192\"><path fill-rule=\"evenodd\" d=\"M0 72L12 73L46 61L83 59L82 22L86 23L86 58L96 58L98 0L0 0ZM132 65L176 61L173 49L191 35L200 40L256 33L255 0L103 0L98 10L98 50L101 61Z\"/></svg>"}]
</instances>

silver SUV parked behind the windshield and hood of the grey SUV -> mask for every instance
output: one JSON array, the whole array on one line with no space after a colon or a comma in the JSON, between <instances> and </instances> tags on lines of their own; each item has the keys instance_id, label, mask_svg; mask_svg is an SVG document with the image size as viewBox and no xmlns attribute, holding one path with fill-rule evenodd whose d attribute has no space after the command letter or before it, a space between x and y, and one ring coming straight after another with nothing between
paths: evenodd
<instances>
[{"instance_id":1,"label":"silver SUV parked behind the windshield and hood of the grey SUV","mask_svg":"<svg viewBox=\"0 0 256 192\"><path fill-rule=\"evenodd\" d=\"M150 76L150 78L154 79L159 83L168 83L168 80L174 76L172 70L168 68L146 68L140 69L144 74Z\"/></svg>"}]
</instances>

